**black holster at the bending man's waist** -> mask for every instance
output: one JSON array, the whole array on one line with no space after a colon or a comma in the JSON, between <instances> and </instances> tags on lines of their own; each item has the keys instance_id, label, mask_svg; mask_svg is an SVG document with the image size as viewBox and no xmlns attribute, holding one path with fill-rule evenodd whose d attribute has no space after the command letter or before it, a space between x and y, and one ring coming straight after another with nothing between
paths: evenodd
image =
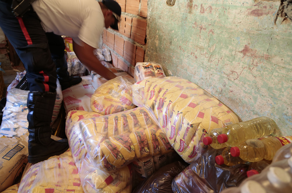
<instances>
[{"instance_id":1,"label":"black holster at the bending man's waist","mask_svg":"<svg viewBox=\"0 0 292 193\"><path fill-rule=\"evenodd\" d=\"M11 9L16 17L22 17L24 13L32 8L31 4L35 0L13 0Z\"/></svg>"}]
</instances>

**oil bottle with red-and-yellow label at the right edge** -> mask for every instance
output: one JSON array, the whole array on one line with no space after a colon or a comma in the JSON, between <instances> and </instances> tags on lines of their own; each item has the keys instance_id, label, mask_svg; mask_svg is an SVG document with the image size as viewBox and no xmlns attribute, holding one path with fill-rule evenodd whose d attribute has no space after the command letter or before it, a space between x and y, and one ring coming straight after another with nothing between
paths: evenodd
<instances>
[{"instance_id":1,"label":"oil bottle with red-and-yellow label at the right edge","mask_svg":"<svg viewBox=\"0 0 292 193\"><path fill-rule=\"evenodd\" d=\"M291 143L292 136L266 137L262 139L248 139L231 148L232 156L239 156L243 160L256 162L262 159L272 160L276 152L284 145Z\"/></svg>"}]
</instances>

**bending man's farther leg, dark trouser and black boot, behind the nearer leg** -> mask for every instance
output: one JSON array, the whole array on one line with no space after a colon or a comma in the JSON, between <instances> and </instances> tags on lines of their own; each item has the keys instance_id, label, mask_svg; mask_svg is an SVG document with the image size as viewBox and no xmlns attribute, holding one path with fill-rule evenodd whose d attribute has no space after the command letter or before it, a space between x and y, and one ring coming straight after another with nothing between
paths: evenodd
<instances>
[{"instance_id":1,"label":"bending man's farther leg, dark trouser and black boot, behind the nearer leg","mask_svg":"<svg viewBox=\"0 0 292 193\"><path fill-rule=\"evenodd\" d=\"M66 56L64 54L65 44L61 35L46 33L52 59L56 64L57 78L60 81L62 90L69 88L82 81L80 76L69 76Z\"/></svg>"}]
</instances>

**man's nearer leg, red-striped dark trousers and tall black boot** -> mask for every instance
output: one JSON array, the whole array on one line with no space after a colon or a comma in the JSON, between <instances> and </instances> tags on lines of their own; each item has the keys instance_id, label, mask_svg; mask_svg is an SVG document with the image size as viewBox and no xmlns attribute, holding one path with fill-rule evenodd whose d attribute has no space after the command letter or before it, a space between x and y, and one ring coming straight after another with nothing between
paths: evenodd
<instances>
[{"instance_id":1,"label":"man's nearer leg, red-striped dark trousers and tall black boot","mask_svg":"<svg viewBox=\"0 0 292 193\"><path fill-rule=\"evenodd\" d=\"M22 18L11 13L11 1L0 0L0 27L27 71L28 161L37 163L68 149L68 140L51 139L51 118L56 99L56 67L47 37L37 14L30 10Z\"/></svg>"}]
</instances>

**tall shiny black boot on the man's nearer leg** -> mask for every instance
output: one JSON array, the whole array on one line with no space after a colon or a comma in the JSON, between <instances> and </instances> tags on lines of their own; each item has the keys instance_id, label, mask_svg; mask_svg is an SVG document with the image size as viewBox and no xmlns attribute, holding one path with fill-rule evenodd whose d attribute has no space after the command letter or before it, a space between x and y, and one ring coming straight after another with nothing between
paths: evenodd
<instances>
[{"instance_id":1,"label":"tall shiny black boot on the man's nearer leg","mask_svg":"<svg viewBox=\"0 0 292 193\"><path fill-rule=\"evenodd\" d=\"M38 163L64 153L68 140L51 139L51 119L56 93L30 92L28 94L28 162Z\"/></svg>"}]
</instances>

